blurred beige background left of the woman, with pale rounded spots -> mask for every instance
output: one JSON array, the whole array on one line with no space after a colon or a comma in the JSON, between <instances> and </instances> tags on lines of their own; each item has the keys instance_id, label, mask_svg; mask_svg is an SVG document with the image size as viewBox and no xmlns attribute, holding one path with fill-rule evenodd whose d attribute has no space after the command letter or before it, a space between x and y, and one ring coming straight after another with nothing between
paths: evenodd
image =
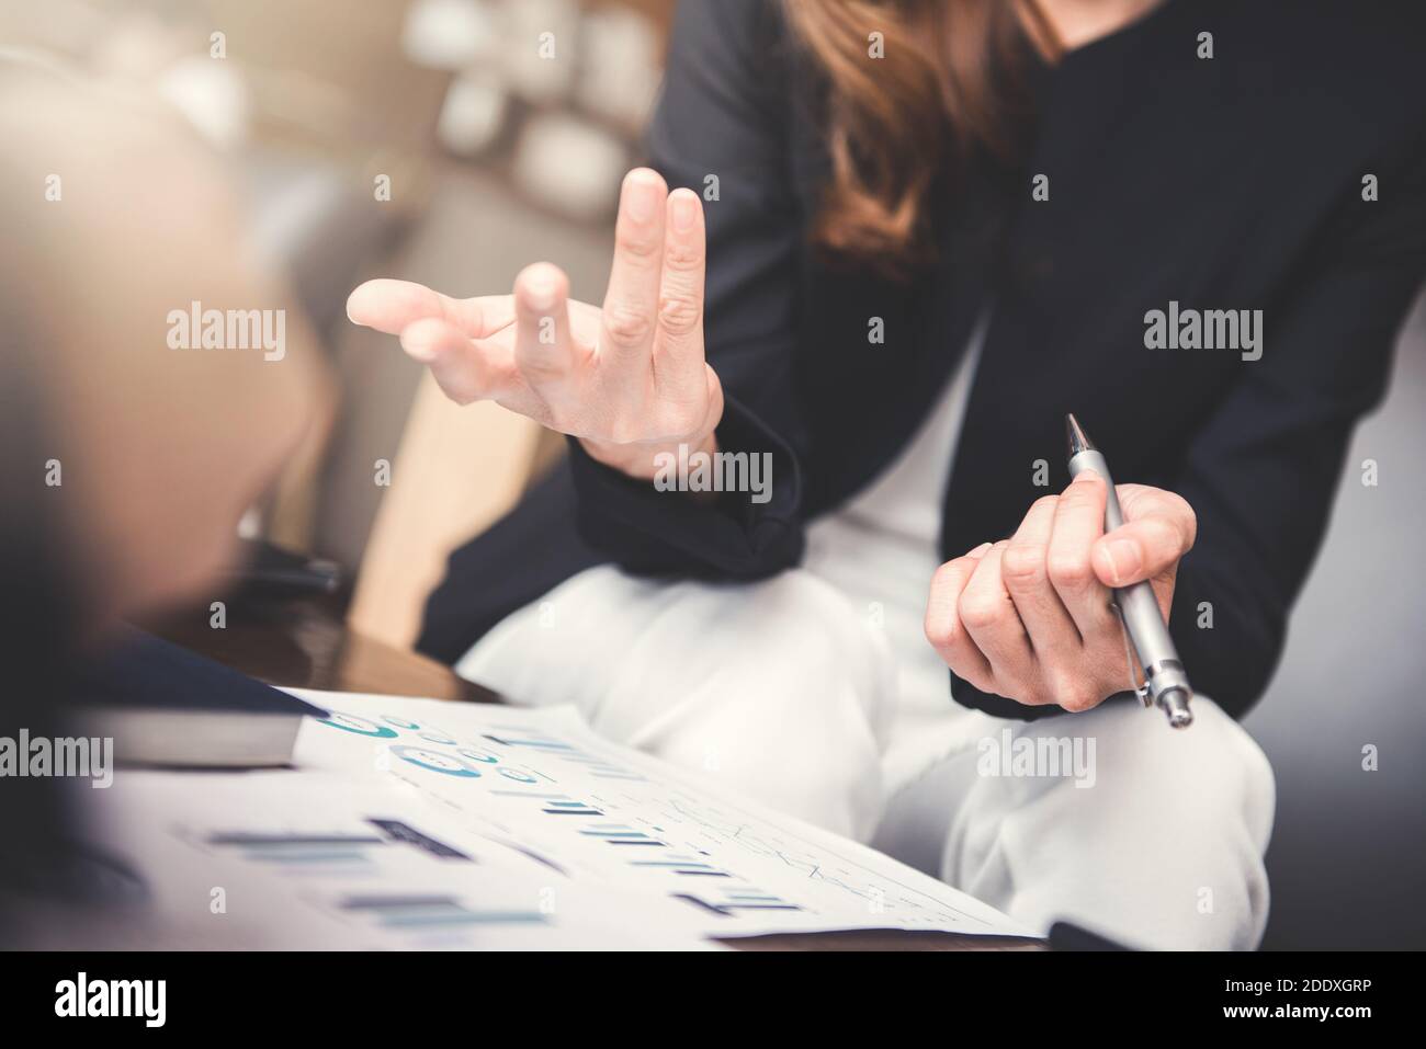
<instances>
[{"instance_id":1,"label":"blurred beige background left of the woman, with pale rounded spots","mask_svg":"<svg viewBox=\"0 0 1426 1049\"><path fill-rule=\"evenodd\" d=\"M47 0L0 41L151 91L230 160L255 248L341 382L335 423L245 534L342 569L364 633L409 646L461 540L562 439L456 409L395 341L355 329L369 277L503 294L558 259L603 298L619 182L662 78L672 0ZM201 222L201 215L193 217ZM389 486L375 483L389 463Z\"/></svg>"}]
</instances>

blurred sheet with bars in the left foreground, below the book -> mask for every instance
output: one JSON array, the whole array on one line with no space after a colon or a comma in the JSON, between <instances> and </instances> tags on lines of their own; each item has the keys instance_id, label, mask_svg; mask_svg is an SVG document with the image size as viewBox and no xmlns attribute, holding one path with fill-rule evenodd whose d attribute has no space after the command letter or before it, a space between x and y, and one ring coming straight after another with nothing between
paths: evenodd
<instances>
[{"instance_id":1,"label":"blurred sheet with bars in the left foreground, below the book","mask_svg":"<svg viewBox=\"0 0 1426 1049\"><path fill-rule=\"evenodd\" d=\"M713 946L673 901L578 884L396 778L121 770L94 794L94 837L148 889L94 946Z\"/></svg>"}]
</instances>

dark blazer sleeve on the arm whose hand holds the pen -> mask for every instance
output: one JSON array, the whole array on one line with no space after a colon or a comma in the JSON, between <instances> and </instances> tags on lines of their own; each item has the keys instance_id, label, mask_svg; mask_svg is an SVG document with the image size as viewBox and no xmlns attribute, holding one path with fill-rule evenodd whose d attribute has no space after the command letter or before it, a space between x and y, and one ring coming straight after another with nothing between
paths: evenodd
<instances>
[{"instance_id":1,"label":"dark blazer sleeve on the arm whose hand holds the pen","mask_svg":"<svg viewBox=\"0 0 1426 1049\"><path fill-rule=\"evenodd\" d=\"M1352 430L1385 393L1426 274L1423 147L1382 158L1379 201L1345 188L1309 277L1265 309L1262 358L1242 362L1176 480L1198 543L1179 566L1171 633L1194 687L1235 717L1268 687Z\"/></svg>"}]
</instances>

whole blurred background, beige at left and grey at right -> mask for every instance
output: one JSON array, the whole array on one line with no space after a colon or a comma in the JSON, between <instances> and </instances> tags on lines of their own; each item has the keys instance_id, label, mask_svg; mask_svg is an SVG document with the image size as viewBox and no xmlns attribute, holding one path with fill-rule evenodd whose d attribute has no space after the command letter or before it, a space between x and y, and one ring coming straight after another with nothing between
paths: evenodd
<instances>
[{"instance_id":1,"label":"whole blurred background, beige at left and grey at right","mask_svg":"<svg viewBox=\"0 0 1426 1049\"><path fill-rule=\"evenodd\" d=\"M46 0L0 41L123 80L227 158L248 228L339 379L339 409L244 533L321 557L338 614L409 647L446 554L562 442L455 408L395 341L347 322L369 277L452 295L528 262L603 295L619 180L639 160L673 0ZM193 215L201 224L202 215ZM1278 774L1266 948L1422 948L1426 596L1419 520L1426 309L1360 429L1288 653L1248 725ZM1380 483L1360 483L1360 463ZM376 480L389 465L389 485ZM1379 750L1365 771L1362 748Z\"/></svg>"}]
</instances>

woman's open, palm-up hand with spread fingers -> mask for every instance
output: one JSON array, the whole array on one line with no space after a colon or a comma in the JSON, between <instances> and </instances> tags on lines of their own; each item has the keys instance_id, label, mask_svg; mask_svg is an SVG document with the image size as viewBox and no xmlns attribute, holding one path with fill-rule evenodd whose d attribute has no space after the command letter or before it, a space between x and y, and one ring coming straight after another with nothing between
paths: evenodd
<instances>
[{"instance_id":1,"label":"woman's open, palm-up hand with spread fingers","mask_svg":"<svg viewBox=\"0 0 1426 1049\"><path fill-rule=\"evenodd\" d=\"M452 299L368 281L356 324L401 336L458 403L495 401L576 436L597 460L653 477L655 456L714 450L723 391L703 359L703 204L657 172L625 177L603 309L569 299L569 278L526 267L513 295Z\"/></svg>"}]
</instances>

